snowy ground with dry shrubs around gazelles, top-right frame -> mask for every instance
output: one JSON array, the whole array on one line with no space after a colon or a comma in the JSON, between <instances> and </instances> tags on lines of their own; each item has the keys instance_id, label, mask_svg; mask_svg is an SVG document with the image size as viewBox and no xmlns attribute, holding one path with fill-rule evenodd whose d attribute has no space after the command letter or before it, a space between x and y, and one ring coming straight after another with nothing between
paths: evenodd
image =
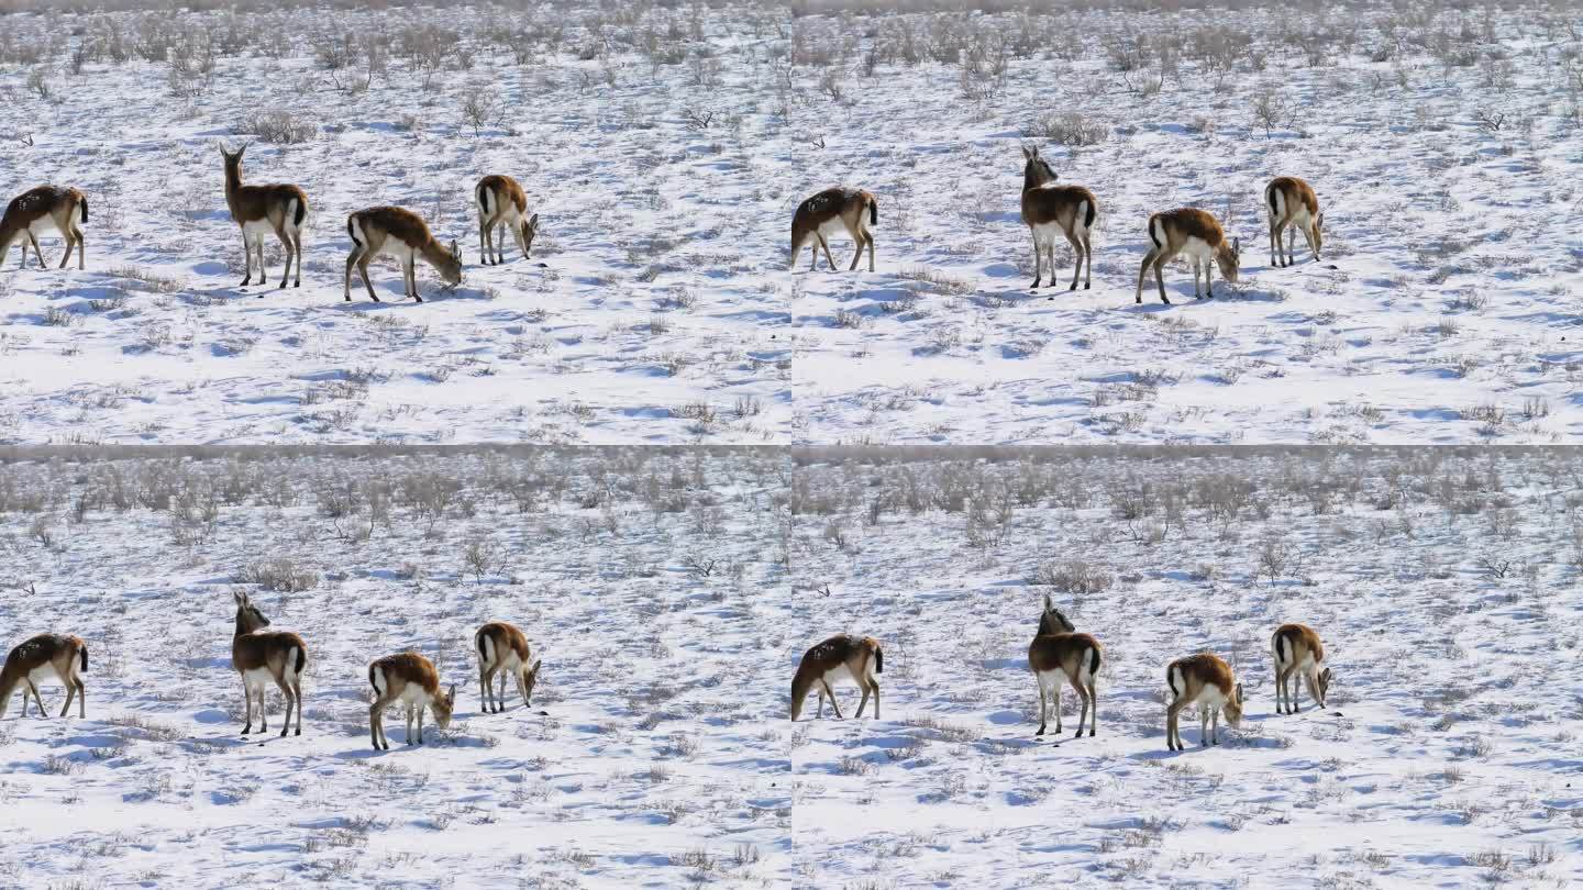
<instances>
[{"instance_id":1,"label":"snowy ground with dry shrubs around gazelles, top-right frame","mask_svg":"<svg viewBox=\"0 0 1583 890\"><path fill-rule=\"evenodd\" d=\"M880 263L782 257L798 440L1574 440L1580 52L1561 8L796 19L795 188L872 190ZM1092 290L1057 239L1029 291L1023 144L1099 196ZM1279 174L1320 263L1270 264ZM1241 238L1241 282L1195 302L1176 263L1135 306L1178 206Z\"/></svg>"}]
</instances>

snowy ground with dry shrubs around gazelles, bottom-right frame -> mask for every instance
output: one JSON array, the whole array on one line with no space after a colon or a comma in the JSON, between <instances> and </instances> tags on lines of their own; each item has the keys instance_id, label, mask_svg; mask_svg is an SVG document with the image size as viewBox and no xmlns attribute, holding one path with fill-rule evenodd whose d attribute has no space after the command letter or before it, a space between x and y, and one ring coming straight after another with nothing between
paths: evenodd
<instances>
[{"instance_id":1,"label":"snowy ground with dry shrubs around gazelles, bottom-right frame","mask_svg":"<svg viewBox=\"0 0 1583 890\"><path fill-rule=\"evenodd\" d=\"M885 671L883 719L845 686L795 724L799 885L1575 885L1583 455L803 461L796 648L871 633ZM1105 646L1095 738L1034 736L1045 592ZM1285 621L1327 643L1323 713L1274 714ZM1247 713L1171 754L1165 665L1200 649Z\"/></svg>"}]
</instances>

